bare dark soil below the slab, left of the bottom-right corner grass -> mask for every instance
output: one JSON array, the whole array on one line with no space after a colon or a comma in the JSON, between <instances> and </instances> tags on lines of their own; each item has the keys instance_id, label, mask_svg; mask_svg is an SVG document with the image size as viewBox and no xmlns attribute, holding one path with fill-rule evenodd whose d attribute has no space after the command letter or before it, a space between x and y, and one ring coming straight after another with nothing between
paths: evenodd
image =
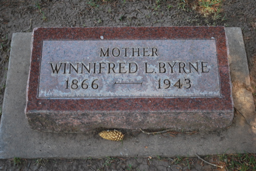
<instances>
[{"instance_id":1,"label":"bare dark soil below the slab, left of the bottom-right corner grass","mask_svg":"<svg viewBox=\"0 0 256 171\"><path fill-rule=\"evenodd\" d=\"M113 160L112 160L113 159ZM181 159L188 164L173 159L148 158L105 158L105 159L42 159L22 160L22 164L14 166L13 160L0 160L3 170L212 170L212 166L202 164L196 158ZM40 161L40 162L38 162ZM176 164L175 164L176 163ZM202 165L201 165L202 164ZM1 169L0 169L1 170Z\"/></svg>"}]
</instances>

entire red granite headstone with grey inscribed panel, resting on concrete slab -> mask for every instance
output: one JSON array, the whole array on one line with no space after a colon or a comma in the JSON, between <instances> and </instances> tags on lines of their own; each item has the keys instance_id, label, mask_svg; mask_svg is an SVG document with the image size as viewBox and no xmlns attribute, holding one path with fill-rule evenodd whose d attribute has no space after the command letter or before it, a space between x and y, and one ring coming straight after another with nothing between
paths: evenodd
<instances>
[{"instance_id":1,"label":"entire red granite headstone with grey inscribed panel, resting on concrete slab","mask_svg":"<svg viewBox=\"0 0 256 171\"><path fill-rule=\"evenodd\" d=\"M35 28L25 113L49 132L229 126L224 27Z\"/></svg>"}]
</instances>

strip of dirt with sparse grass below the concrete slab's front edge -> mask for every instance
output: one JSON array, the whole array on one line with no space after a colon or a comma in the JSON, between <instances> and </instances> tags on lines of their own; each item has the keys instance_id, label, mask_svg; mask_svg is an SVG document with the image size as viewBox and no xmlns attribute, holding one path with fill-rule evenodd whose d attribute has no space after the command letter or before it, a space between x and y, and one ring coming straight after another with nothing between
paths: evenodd
<instances>
[{"instance_id":1,"label":"strip of dirt with sparse grass below the concrete slab's front edge","mask_svg":"<svg viewBox=\"0 0 256 171\"><path fill-rule=\"evenodd\" d=\"M255 170L255 154L218 155L204 158L120 158L0 160L1 170ZM203 161L204 160L204 161ZM241 162L242 161L242 162ZM210 164L209 164L210 163Z\"/></svg>"}]
</instances>

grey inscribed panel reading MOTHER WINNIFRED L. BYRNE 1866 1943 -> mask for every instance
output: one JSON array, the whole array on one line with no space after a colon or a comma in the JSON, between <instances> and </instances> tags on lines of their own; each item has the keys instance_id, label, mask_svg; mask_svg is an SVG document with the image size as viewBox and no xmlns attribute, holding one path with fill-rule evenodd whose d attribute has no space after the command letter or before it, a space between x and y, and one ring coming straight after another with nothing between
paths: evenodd
<instances>
[{"instance_id":1,"label":"grey inscribed panel reading MOTHER WINNIFRED L. BYRNE 1866 1943","mask_svg":"<svg viewBox=\"0 0 256 171\"><path fill-rule=\"evenodd\" d=\"M38 98L218 96L215 39L43 41Z\"/></svg>"}]
</instances>

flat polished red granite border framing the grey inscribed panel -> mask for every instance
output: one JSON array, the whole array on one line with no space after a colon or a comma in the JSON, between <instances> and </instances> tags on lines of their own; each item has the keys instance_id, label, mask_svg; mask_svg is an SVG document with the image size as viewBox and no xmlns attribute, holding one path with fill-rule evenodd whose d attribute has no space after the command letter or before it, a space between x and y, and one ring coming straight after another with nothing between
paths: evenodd
<instances>
[{"instance_id":1,"label":"flat polished red granite border framing the grey inscribed panel","mask_svg":"<svg viewBox=\"0 0 256 171\"><path fill-rule=\"evenodd\" d=\"M221 97L206 98L37 98L43 40L104 39L216 39ZM195 112L232 111L229 66L224 27L100 27L35 28L26 113L33 111L87 112Z\"/></svg>"}]
</instances>

